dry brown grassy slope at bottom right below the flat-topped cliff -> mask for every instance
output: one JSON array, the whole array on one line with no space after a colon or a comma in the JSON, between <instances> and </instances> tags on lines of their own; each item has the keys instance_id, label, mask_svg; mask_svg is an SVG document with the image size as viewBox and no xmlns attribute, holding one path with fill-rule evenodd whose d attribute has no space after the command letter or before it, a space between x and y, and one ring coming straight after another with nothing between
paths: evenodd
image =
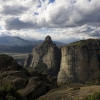
<instances>
[{"instance_id":1,"label":"dry brown grassy slope at bottom right below the flat-topped cliff","mask_svg":"<svg viewBox=\"0 0 100 100\"><path fill-rule=\"evenodd\" d=\"M95 92L99 91L100 91L99 85L92 85L92 86L85 86L81 84L65 85L57 89L51 90L46 95L38 98L37 100L92 100L92 99L84 99L84 97L88 95L93 95Z\"/></svg>"}]
</instances>

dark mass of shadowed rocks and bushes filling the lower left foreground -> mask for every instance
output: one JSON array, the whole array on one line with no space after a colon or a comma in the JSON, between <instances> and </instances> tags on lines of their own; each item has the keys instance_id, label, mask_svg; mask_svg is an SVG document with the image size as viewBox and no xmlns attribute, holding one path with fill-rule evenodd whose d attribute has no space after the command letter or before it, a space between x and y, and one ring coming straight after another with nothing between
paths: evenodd
<instances>
[{"instance_id":1,"label":"dark mass of shadowed rocks and bushes filling the lower left foreground","mask_svg":"<svg viewBox=\"0 0 100 100\"><path fill-rule=\"evenodd\" d=\"M0 55L0 100L35 100L56 86L55 77L29 72L12 57Z\"/></svg>"}]
</instances>

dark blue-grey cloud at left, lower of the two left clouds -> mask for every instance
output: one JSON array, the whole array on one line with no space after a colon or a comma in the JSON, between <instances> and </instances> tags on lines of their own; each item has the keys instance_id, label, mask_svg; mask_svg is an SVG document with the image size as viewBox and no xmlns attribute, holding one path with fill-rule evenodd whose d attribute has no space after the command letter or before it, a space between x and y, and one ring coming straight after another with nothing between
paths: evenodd
<instances>
[{"instance_id":1,"label":"dark blue-grey cloud at left, lower of the two left clouds","mask_svg":"<svg viewBox=\"0 0 100 100\"><path fill-rule=\"evenodd\" d=\"M23 28L33 28L34 24L32 22L23 22L18 18L12 18L5 21L7 30L20 30Z\"/></svg>"}]
</instances>

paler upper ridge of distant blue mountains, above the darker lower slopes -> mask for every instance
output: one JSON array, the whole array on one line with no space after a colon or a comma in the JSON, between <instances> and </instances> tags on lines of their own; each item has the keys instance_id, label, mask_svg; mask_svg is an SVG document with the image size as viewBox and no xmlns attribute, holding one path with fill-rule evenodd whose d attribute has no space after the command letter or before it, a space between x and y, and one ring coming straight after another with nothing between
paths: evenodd
<instances>
[{"instance_id":1,"label":"paler upper ridge of distant blue mountains, above the darker lower slopes","mask_svg":"<svg viewBox=\"0 0 100 100\"><path fill-rule=\"evenodd\" d=\"M39 41L36 41L36 40L33 40L33 41L30 41L30 40L25 40L25 39L22 39L18 36L2 36L0 37L0 45L8 45L8 46L29 46L29 45L38 45L40 43L42 43L43 40L39 40ZM61 43L61 42L57 42L57 41L54 41L54 43L57 45L57 46L61 46L61 45L64 45L64 43Z\"/></svg>"}]
</instances>

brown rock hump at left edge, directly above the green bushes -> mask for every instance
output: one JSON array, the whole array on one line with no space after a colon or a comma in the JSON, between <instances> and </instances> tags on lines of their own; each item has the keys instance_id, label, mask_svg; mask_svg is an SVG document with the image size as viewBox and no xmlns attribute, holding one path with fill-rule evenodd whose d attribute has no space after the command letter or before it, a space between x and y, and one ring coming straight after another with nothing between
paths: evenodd
<instances>
[{"instance_id":1,"label":"brown rock hump at left edge, directly above the green bushes","mask_svg":"<svg viewBox=\"0 0 100 100\"><path fill-rule=\"evenodd\" d=\"M16 89L24 88L29 78L24 72L20 71L4 71L0 73L0 86L6 83L14 84Z\"/></svg>"}]
</instances>

